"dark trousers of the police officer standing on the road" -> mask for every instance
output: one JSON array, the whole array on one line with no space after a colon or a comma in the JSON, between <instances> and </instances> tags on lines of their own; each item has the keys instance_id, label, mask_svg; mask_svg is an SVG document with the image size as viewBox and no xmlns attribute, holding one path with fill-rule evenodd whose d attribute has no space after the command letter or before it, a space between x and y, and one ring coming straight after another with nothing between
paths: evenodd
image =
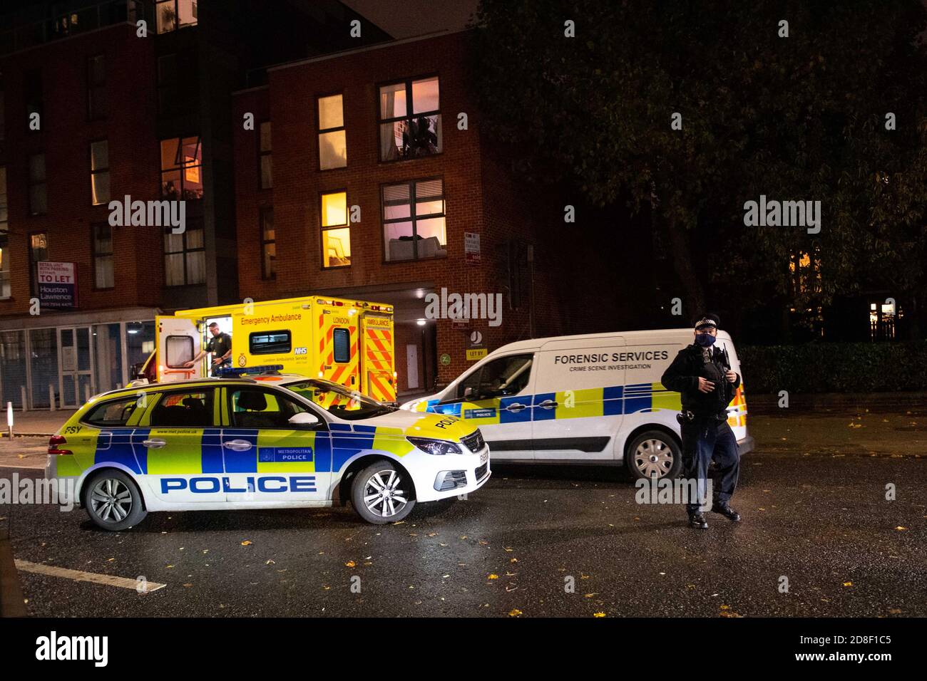
<instances>
[{"instance_id":1,"label":"dark trousers of the police officer standing on the road","mask_svg":"<svg viewBox=\"0 0 927 681\"><path fill-rule=\"evenodd\" d=\"M696 418L682 422L682 466L687 480L695 480L699 498L705 498L708 466L715 461L712 479L712 501L726 504L737 487L741 468L741 455L737 438L727 421ZM686 504L689 512L697 511L698 499Z\"/></svg>"}]
</instances>

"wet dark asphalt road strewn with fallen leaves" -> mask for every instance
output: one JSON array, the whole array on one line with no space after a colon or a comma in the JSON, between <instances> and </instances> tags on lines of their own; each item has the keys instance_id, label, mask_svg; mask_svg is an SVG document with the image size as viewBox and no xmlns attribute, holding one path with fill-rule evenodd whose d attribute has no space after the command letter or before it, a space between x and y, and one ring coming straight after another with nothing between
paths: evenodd
<instances>
[{"instance_id":1,"label":"wet dark asphalt road strewn with fallen leaves","mask_svg":"<svg viewBox=\"0 0 927 681\"><path fill-rule=\"evenodd\" d=\"M378 527L349 508L152 513L118 534L51 506L0 518L32 615L927 616L927 412L782 410L749 427L743 523L709 514L705 531L636 503L622 470L528 465ZM0 464L38 465L17 443L25 458Z\"/></svg>"}]
</instances>

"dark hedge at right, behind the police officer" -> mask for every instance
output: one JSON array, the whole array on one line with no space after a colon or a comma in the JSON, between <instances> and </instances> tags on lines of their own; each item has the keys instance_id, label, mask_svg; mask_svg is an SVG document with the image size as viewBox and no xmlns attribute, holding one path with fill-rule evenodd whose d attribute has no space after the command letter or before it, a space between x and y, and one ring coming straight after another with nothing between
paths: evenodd
<instances>
[{"instance_id":1,"label":"dark hedge at right, behind the police officer","mask_svg":"<svg viewBox=\"0 0 927 681\"><path fill-rule=\"evenodd\" d=\"M750 393L927 390L927 342L738 347Z\"/></svg>"}]
</instances>

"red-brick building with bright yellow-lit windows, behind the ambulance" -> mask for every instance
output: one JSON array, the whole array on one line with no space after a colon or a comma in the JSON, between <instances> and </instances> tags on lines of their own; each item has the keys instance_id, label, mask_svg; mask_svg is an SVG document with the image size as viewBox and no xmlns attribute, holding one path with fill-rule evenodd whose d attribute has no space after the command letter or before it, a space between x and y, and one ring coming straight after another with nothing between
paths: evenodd
<instances>
[{"instance_id":1,"label":"red-brick building with bright yellow-lit windows, behind the ambulance","mask_svg":"<svg viewBox=\"0 0 927 681\"><path fill-rule=\"evenodd\" d=\"M575 302L607 266L588 258L588 243L583 257L565 253L564 201L519 183L481 134L470 38L442 32L298 60L235 93L240 295L392 303L400 392L463 372L473 332L493 349L613 322ZM464 233L479 235L476 263ZM501 294L502 323L430 319L427 296L442 288Z\"/></svg>"}]
</instances>

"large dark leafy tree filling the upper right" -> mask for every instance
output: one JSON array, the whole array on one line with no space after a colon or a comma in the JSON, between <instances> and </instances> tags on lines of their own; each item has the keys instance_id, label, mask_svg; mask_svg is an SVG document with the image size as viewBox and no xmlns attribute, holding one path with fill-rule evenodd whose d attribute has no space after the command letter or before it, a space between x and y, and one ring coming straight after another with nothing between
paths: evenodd
<instances>
[{"instance_id":1,"label":"large dark leafy tree filling the upper right","mask_svg":"<svg viewBox=\"0 0 927 681\"><path fill-rule=\"evenodd\" d=\"M476 72L489 134L528 177L652 208L693 309L751 281L740 304L804 309L901 261L923 292L925 26L920 0L482 0ZM820 201L820 232L745 226L760 195ZM796 252L820 260L801 291Z\"/></svg>"}]
</instances>

